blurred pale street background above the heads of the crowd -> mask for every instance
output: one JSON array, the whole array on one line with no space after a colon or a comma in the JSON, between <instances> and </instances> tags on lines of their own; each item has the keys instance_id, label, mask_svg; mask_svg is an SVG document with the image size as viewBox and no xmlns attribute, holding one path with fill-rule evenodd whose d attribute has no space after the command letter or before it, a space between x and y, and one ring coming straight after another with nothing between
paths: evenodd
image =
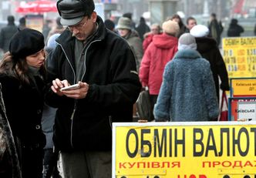
<instances>
[{"instance_id":1,"label":"blurred pale street background above the heads of the crowd","mask_svg":"<svg viewBox=\"0 0 256 178\"><path fill-rule=\"evenodd\" d=\"M58 17L56 0L0 0L0 28L7 23L8 15L15 16L15 23L19 18L26 17L27 25L34 29L49 23L56 25ZM168 16L180 15L180 18L193 16L197 24L207 25L211 13L217 15L222 22L224 31L227 30L231 18L237 18L244 27L244 36L253 35L256 18L256 1L254 0L95 0L96 11L103 19L111 19L116 24L118 19L130 12L133 22L138 25L140 18L145 18L147 25L161 24ZM222 35L227 35L224 32Z\"/></svg>"}]
</instances>

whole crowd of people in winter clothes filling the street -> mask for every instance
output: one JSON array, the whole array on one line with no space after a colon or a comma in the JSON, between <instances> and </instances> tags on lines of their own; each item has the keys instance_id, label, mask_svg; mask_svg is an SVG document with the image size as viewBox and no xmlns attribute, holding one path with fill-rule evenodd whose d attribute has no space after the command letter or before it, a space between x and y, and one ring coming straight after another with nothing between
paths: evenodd
<instances>
[{"instance_id":1,"label":"whole crowd of people in winter clothes filling the street","mask_svg":"<svg viewBox=\"0 0 256 178\"><path fill-rule=\"evenodd\" d=\"M112 123L144 119L135 103L146 88L148 121L217 121L219 91L229 83L214 13L208 26L177 14L135 25L130 13L115 25L97 15L93 0L59 0L57 8L54 29L26 28L25 19L18 29L9 16L0 33L3 128L10 126L17 152L5 152L1 177L60 177L59 153L65 177L111 177ZM241 32L232 20L228 35Z\"/></svg>"}]
</instances>

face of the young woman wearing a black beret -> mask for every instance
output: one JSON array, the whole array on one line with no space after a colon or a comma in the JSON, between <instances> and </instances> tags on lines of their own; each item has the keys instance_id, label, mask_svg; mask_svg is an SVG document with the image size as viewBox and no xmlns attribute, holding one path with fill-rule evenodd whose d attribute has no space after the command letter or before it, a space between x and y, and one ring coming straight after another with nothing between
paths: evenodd
<instances>
[{"instance_id":1,"label":"face of the young woman wearing a black beret","mask_svg":"<svg viewBox=\"0 0 256 178\"><path fill-rule=\"evenodd\" d=\"M26 60L28 65L30 65L32 67L35 67L35 68L40 68L45 62L45 51L44 51L44 49L42 49L39 52L36 52L32 55L26 56L25 60Z\"/></svg>"}]
</instances>

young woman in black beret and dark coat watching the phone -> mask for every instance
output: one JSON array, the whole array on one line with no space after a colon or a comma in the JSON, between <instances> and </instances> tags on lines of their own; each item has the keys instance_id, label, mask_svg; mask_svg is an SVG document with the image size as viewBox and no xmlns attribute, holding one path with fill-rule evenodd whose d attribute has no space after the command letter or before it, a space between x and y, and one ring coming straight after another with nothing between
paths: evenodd
<instances>
[{"instance_id":1,"label":"young woman in black beret and dark coat watching the phone","mask_svg":"<svg viewBox=\"0 0 256 178\"><path fill-rule=\"evenodd\" d=\"M9 52L0 62L2 96L22 177L42 178L44 46L41 32L23 29L13 35Z\"/></svg>"}]
</instances>

